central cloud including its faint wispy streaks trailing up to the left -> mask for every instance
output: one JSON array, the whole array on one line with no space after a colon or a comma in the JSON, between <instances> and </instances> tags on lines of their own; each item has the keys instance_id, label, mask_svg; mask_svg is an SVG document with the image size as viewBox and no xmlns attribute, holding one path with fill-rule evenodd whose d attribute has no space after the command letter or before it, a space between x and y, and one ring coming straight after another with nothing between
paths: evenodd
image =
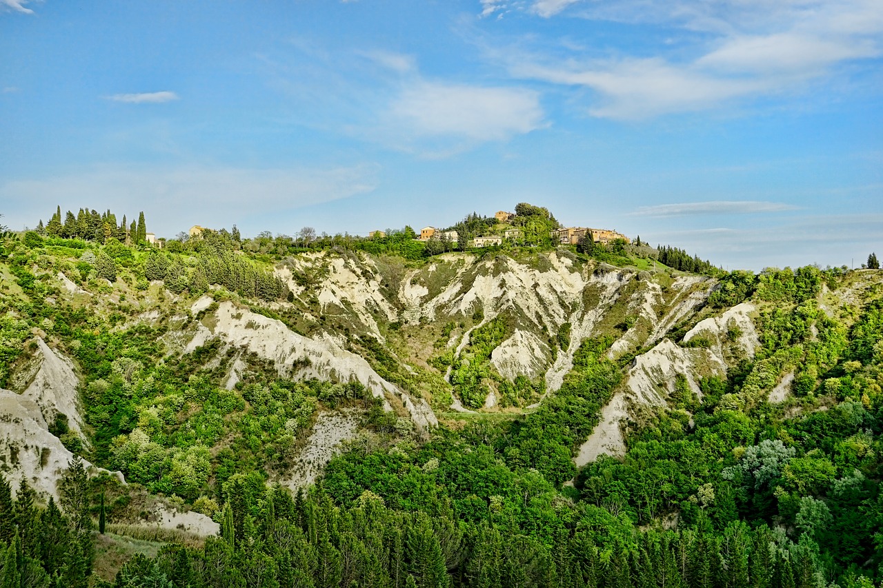
<instances>
[{"instance_id":1,"label":"central cloud including its faint wispy streaks trailing up to the left","mask_svg":"<svg viewBox=\"0 0 883 588\"><path fill-rule=\"evenodd\" d=\"M272 84L304 113L292 115L296 124L432 159L547 125L540 93L508 79L429 78L413 56L383 49L296 47L308 61L260 57Z\"/></svg>"}]
</instances>

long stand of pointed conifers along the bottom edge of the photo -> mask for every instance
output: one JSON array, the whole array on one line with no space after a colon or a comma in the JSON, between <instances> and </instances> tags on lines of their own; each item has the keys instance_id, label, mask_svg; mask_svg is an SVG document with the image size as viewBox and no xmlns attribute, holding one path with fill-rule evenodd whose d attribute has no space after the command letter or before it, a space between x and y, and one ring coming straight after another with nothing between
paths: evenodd
<instances>
[{"instance_id":1,"label":"long stand of pointed conifers along the bottom edge of the photo","mask_svg":"<svg viewBox=\"0 0 883 588\"><path fill-rule=\"evenodd\" d=\"M115 586L310 586L336 588L819 588L817 548L766 525L729 524L605 538L606 513L555 521L543 539L450 512L390 509L366 492L339 508L321 493L228 487L220 538L202 549L136 556ZM597 518L600 515L600 519ZM867 585L853 581L848 585Z\"/></svg>"}]
</instances>

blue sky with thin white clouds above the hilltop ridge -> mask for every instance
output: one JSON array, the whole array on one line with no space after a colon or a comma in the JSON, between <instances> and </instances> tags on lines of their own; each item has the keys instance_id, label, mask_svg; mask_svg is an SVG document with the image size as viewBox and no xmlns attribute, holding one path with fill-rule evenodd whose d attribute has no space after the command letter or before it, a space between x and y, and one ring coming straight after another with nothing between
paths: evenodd
<instances>
[{"instance_id":1,"label":"blue sky with thin white clouds above the hilltop ridge","mask_svg":"<svg viewBox=\"0 0 883 588\"><path fill-rule=\"evenodd\" d=\"M0 222L518 202L727 269L883 253L880 0L0 0Z\"/></svg>"}]
</instances>

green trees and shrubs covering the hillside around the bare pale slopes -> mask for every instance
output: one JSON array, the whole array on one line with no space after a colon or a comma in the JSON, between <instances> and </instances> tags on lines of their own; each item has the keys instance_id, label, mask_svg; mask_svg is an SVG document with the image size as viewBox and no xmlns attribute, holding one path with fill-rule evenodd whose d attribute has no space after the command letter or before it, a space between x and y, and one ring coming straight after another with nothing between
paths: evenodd
<instances>
[{"instance_id":1,"label":"green trees and shrubs covering the hillside around the bare pale slopes","mask_svg":"<svg viewBox=\"0 0 883 588\"><path fill-rule=\"evenodd\" d=\"M59 209L45 234L3 237L9 283L0 298L0 387L26 359L34 329L55 337L79 366L89 432L82 439L59 419L53 431L65 446L221 528L198 545L171 540L155 555L135 554L115 586L883 585L883 291L873 285L840 313L820 302L855 272L723 273L660 247L665 279L677 271L717 275L707 312L758 305L758 350L722 376L701 378L700 395L678 379L667 407L644 407L630 420L623 456L577 467L573 457L635 358L611 351L634 317L582 340L571 341L569 323L546 333L555 354L573 346L573 366L548 396L543 381L502 378L491 366L517 317L465 317L472 337L459 354L443 345L434 351L433 377L449 373L467 409L484 406L488 389L509 407L541 402L506 418L475 413L420 433L356 381L292 380L255 360L227 388L232 352L209 342L170 353L162 342L184 328L173 321L139 322L133 317L141 311L122 305L94 312L94 302L48 301L58 298L51 280L63 271L90 297L109 296L117 281L163 300L211 292L213 305L182 319L185 326L210 326L208 313L234 300L306 333L280 304L306 312L312 303L275 275L275 264L337 247L419 267L426 245L412 231L281 245L270 236L206 231L157 250L140 237L143 216L132 230L110 213L98 224L81 213L82 224L72 214L63 222ZM538 207L518 214L525 217L519 226L557 223ZM453 230L468 237L492 220L469 215ZM589 267L599 259L638 263L639 249L623 244L582 249L574 259ZM324 278L295 279L308 288ZM440 325L439 340L456 328ZM675 343L711 344L682 341L684 329L671 335ZM739 335L730 327L728 336ZM348 349L403 386L419 379L397 373L378 339L351 337ZM789 371L793 402L768 402L768 390ZM313 486L292 493L274 484L316 415L343 410L358 411L362 441L331 459ZM0 588L109 585L91 574L94 541L106 522L125 519L132 492L106 475L87 479L79 459L60 483L58 504L42 503L26 485L13 498L0 483Z\"/></svg>"}]
</instances>

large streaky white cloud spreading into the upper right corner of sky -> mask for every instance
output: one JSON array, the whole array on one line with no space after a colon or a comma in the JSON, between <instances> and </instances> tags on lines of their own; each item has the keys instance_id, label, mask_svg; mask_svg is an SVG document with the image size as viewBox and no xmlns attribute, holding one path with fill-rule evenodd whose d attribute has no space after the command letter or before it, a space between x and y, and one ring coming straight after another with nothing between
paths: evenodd
<instances>
[{"instance_id":1,"label":"large streaky white cloud spreading into the upper right corner of sky","mask_svg":"<svg viewBox=\"0 0 883 588\"><path fill-rule=\"evenodd\" d=\"M571 5L568 14L583 19L681 31L674 48L660 44L651 57L628 49L497 52L517 78L592 90L595 117L642 119L800 93L847 64L883 56L876 0L538 0L529 11L549 18Z\"/></svg>"}]
</instances>

